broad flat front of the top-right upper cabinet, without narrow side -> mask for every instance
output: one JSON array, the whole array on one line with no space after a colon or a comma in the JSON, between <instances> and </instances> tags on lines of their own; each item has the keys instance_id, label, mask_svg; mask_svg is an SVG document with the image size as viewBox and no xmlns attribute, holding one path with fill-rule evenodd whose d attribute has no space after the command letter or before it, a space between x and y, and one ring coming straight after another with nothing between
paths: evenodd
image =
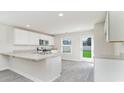
<instances>
[{"instance_id":1,"label":"broad flat front of the top-right upper cabinet, without narrow side","mask_svg":"<svg viewBox=\"0 0 124 93\"><path fill-rule=\"evenodd\" d=\"M124 12L109 12L110 41L124 41Z\"/></svg>"}]
</instances>

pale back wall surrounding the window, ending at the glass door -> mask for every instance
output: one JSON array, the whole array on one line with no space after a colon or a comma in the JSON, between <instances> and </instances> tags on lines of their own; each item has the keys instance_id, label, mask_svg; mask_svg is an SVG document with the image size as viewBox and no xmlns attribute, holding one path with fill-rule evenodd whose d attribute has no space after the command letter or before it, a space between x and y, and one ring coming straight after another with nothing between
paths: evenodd
<instances>
[{"instance_id":1,"label":"pale back wall surrounding the window, ending at the glass door","mask_svg":"<svg viewBox=\"0 0 124 93\"><path fill-rule=\"evenodd\" d=\"M74 60L80 61L80 39L82 36L93 35L93 31L82 31L82 32L74 32L74 33L67 33L55 36L55 47L61 52L61 38L63 37L70 37L72 39L72 53L71 54L62 54L62 59L65 60Z\"/></svg>"}]
</instances>

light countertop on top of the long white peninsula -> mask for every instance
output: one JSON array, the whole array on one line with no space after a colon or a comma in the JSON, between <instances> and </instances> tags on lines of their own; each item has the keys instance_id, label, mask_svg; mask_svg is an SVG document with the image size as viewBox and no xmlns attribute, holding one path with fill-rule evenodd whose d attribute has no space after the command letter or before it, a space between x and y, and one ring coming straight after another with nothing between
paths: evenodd
<instances>
[{"instance_id":1,"label":"light countertop on top of the long white peninsula","mask_svg":"<svg viewBox=\"0 0 124 93\"><path fill-rule=\"evenodd\" d=\"M23 58L27 60L40 61L47 59L49 57L60 56L60 53L50 53L50 54L37 54L33 52L10 52L10 53L0 53L1 55Z\"/></svg>"}]
</instances>

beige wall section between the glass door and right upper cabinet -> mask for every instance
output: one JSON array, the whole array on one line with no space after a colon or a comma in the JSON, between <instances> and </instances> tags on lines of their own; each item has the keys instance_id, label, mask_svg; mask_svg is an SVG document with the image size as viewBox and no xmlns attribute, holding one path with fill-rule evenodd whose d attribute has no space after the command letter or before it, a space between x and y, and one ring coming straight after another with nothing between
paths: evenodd
<instances>
[{"instance_id":1,"label":"beige wall section between the glass door and right upper cabinet","mask_svg":"<svg viewBox=\"0 0 124 93\"><path fill-rule=\"evenodd\" d=\"M104 23L98 23L94 28L94 55L113 55L114 46L105 40Z\"/></svg>"}]
</instances>

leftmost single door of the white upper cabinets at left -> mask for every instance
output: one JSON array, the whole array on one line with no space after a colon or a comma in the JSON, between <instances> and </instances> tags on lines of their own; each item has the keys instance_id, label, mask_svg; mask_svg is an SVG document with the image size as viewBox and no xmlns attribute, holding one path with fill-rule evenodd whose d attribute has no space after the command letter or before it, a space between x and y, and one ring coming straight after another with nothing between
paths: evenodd
<instances>
[{"instance_id":1,"label":"leftmost single door of the white upper cabinets at left","mask_svg":"<svg viewBox=\"0 0 124 93\"><path fill-rule=\"evenodd\" d=\"M15 29L14 44L28 44L28 32L20 29Z\"/></svg>"}]
</instances>

